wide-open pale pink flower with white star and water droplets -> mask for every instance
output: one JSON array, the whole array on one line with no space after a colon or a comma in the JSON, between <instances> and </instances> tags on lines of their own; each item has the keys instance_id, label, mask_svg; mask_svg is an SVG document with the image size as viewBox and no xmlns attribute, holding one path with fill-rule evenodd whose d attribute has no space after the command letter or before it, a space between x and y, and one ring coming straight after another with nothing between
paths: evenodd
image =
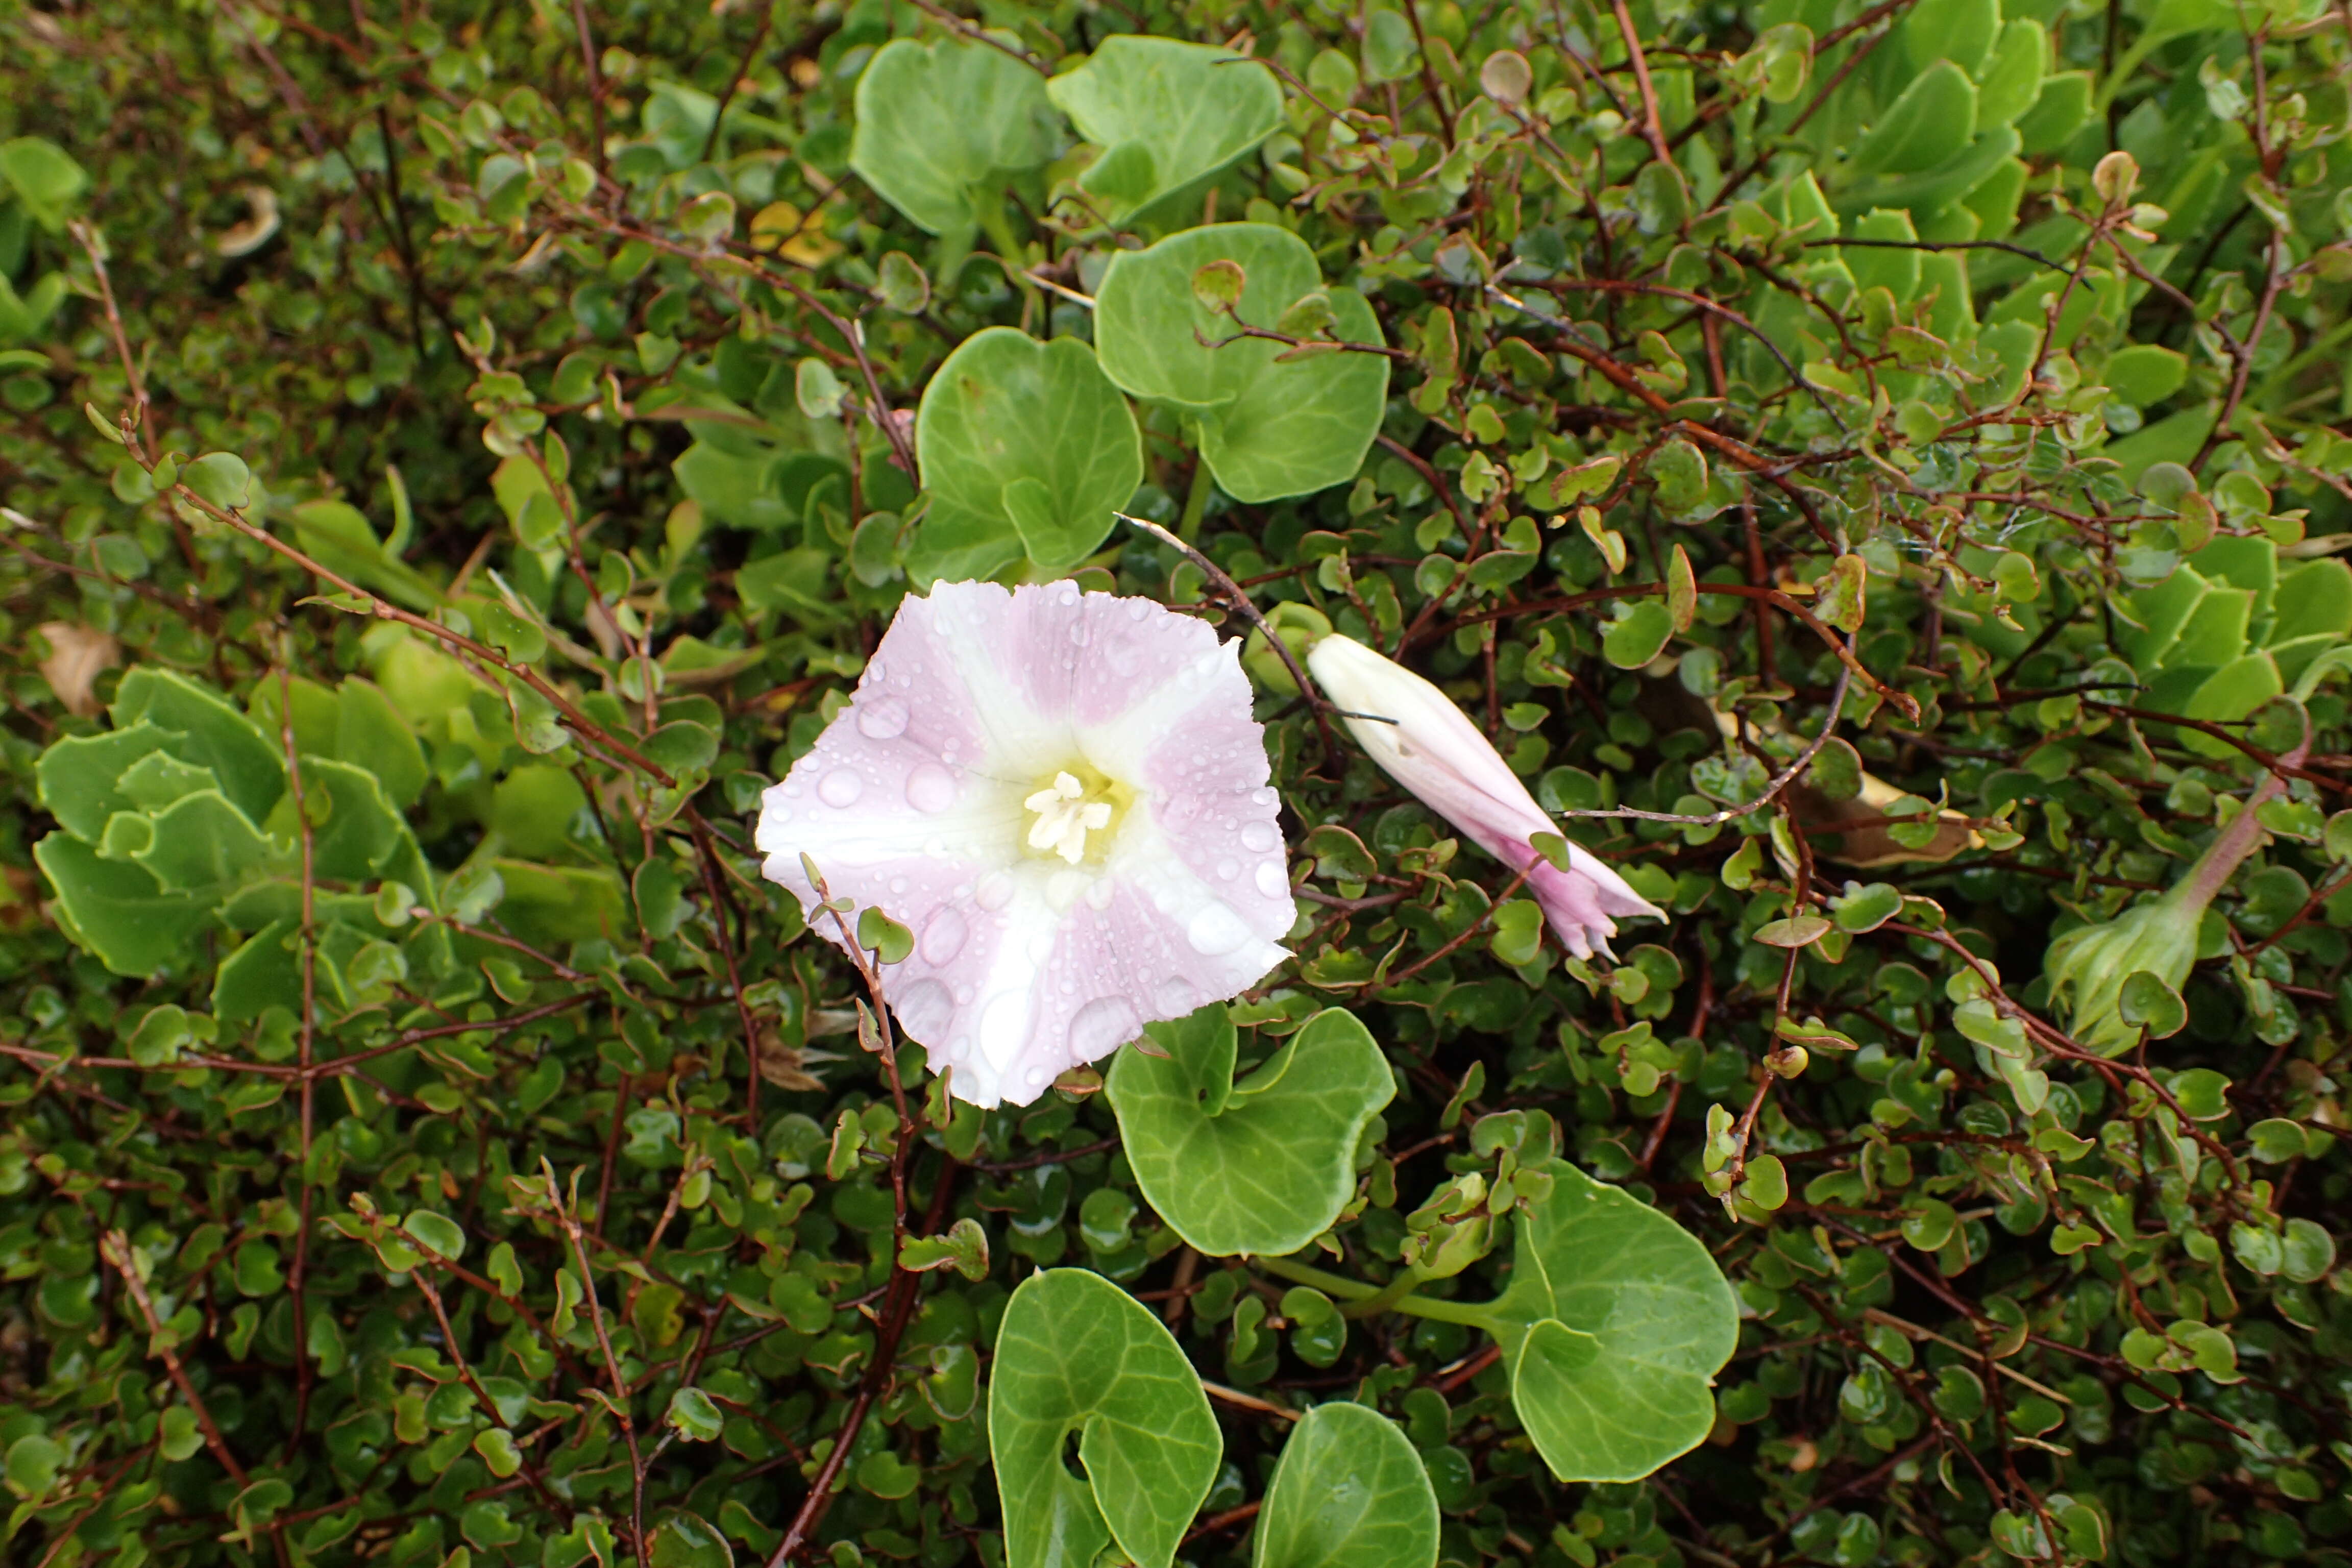
<instances>
[{"instance_id":1,"label":"wide-open pale pink flower with white star and water droplets","mask_svg":"<svg viewBox=\"0 0 2352 1568\"><path fill-rule=\"evenodd\" d=\"M1296 905L1240 644L1075 583L938 583L762 797L764 872L915 933L898 1027L971 1105L1258 983ZM851 919L854 924L854 919ZM840 943L830 914L816 929Z\"/></svg>"}]
</instances>

